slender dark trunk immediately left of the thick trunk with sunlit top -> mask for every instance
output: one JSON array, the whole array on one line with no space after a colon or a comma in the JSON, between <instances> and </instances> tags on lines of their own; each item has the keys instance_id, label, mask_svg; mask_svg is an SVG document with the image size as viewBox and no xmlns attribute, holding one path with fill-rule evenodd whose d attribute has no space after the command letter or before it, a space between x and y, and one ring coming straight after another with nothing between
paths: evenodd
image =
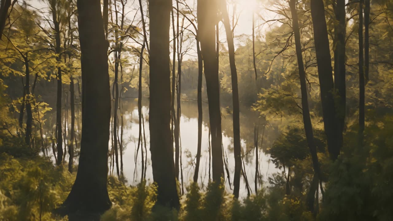
<instances>
[{"instance_id":1,"label":"slender dark trunk immediately left of the thick trunk with sunlit top","mask_svg":"<svg viewBox=\"0 0 393 221\"><path fill-rule=\"evenodd\" d=\"M196 164L194 172L194 182L198 182L200 152L202 147L202 74L203 74L203 60L200 52L199 40L196 39L196 53L198 54L198 144L196 147Z\"/></svg>"}]
</instances>

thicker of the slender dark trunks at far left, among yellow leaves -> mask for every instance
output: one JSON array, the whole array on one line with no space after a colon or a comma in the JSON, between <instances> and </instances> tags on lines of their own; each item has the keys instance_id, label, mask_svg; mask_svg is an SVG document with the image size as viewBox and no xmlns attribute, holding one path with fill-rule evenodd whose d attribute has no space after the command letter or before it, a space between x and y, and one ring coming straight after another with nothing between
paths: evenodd
<instances>
[{"instance_id":1,"label":"thicker of the slender dark trunks at far left, among yellow leaves","mask_svg":"<svg viewBox=\"0 0 393 221\"><path fill-rule=\"evenodd\" d=\"M28 53L26 53L26 55L24 57L24 62L25 62L25 68L26 68L25 90L26 90L26 113L27 113L25 142L26 142L26 145L31 147L31 138L32 138L31 137L31 127L33 125L33 113L31 112L31 99L32 99L32 97L30 96L30 70L29 70Z\"/></svg>"}]
</instances>

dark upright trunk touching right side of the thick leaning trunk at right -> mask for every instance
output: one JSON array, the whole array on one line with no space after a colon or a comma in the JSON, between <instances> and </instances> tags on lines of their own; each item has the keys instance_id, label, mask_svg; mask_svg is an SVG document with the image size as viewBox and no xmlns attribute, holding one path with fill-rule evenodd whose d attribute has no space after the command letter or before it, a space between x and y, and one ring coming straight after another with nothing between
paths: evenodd
<instances>
[{"instance_id":1,"label":"dark upright trunk touching right side of the thick leaning trunk at right","mask_svg":"<svg viewBox=\"0 0 393 221\"><path fill-rule=\"evenodd\" d=\"M342 132L345 125L345 106L346 106L346 92L345 92L345 0L336 0L335 6L336 22L334 22L334 88L339 96L337 111L337 118L339 124L339 136L341 140L338 142L342 145ZM340 144L339 143L339 144Z\"/></svg>"}]
</instances>

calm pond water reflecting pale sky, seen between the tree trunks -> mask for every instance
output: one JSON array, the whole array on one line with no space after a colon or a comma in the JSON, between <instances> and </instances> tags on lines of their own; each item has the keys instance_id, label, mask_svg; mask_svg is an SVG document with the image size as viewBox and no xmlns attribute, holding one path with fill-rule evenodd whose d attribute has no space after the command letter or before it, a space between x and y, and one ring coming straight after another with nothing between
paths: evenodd
<instances>
[{"instance_id":1,"label":"calm pond water reflecting pale sky, seen between the tree trunks","mask_svg":"<svg viewBox=\"0 0 393 221\"><path fill-rule=\"evenodd\" d=\"M144 99L143 103L143 116L145 120L145 136L147 146L147 171L146 179L148 182L153 182L152 168L149 151L149 109L148 101ZM202 150L201 160L198 175L198 184L202 187L208 184L209 180L209 117L207 104L203 104L203 123L202 123ZM196 101L183 101L181 105L182 114L180 117L180 139L181 139L181 159L184 179L184 190L185 187L193 180L195 170L195 156L197 149L197 138L198 138L198 107ZM123 171L124 176L128 181L128 184L134 185L140 181L141 178L141 152L139 151L138 157L136 158L136 147L138 145L139 135L139 120L138 120L138 106L136 100L128 99L123 101L122 108L119 110L119 137L121 129L120 111L123 112ZM230 188L233 188L233 175L235 169L235 160L233 155L233 122L232 116L228 109L222 108L222 143L224 147L225 160L228 162L228 170L231 177L231 186L229 185L228 179L226 178L226 186L229 192L232 192ZM76 110L77 119L75 121L75 127L80 126L81 118L79 110ZM70 111L68 111L70 118ZM70 119L68 120L70 123ZM55 115L49 117L46 126L51 125L51 122L55 122ZM274 164L269 163L269 156L264 154L263 150L272 144L277 134L274 134L268 127L265 128L263 133L263 123L259 120L258 115L255 112L249 110L248 107L241 107L240 124L241 124L241 145L242 155L245 164L244 172L248 178L250 190L254 192L254 179L255 179L255 148L254 147L254 125L259 123L259 170L264 181L267 180L272 173L276 173L278 169L274 167ZM79 124L79 125L78 125ZM64 126L63 126L64 129ZM76 133L78 133L77 129ZM143 134L143 131L142 131ZM261 149L261 138L263 135L263 143ZM78 136L78 135L77 135ZM79 142L79 140L78 140ZM109 140L109 149L111 149L111 140ZM79 147L79 146L78 146ZM51 153L51 147L49 147L49 153ZM68 153L66 153L66 161L68 161ZM51 158L54 161L53 154ZM108 167L110 164L110 158L108 158ZM76 158L74 160L78 162ZM136 165L135 165L136 162ZM119 157L120 163L120 157ZM120 168L120 166L119 166ZM225 171L225 168L224 168ZM113 170L113 175L116 175L116 165ZM226 176L226 175L225 175ZM179 175L180 178L180 175ZM245 197L247 195L246 184L241 176L240 182L240 195ZM260 184L258 183L258 186ZM186 190L185 190L186 191Z\"/></svg>"}]
</instances>

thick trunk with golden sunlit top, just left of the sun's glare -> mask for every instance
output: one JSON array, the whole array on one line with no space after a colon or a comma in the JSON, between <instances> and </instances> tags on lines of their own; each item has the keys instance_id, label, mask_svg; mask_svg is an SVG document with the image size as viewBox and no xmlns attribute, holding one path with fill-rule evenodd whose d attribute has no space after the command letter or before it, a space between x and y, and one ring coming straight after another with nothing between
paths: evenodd
<instances>
[{"instance_id":1,"label":"thick trunk with golden sunlit top, just left of the sun's glare","mask_svg":"<svg viewBox=\"0 0 393 221\"><path fill-rule=\"evenodd\" d=\"M217 0L198 0L198 35L204 60L206 89L208 93L209 120L211 129L211 155L213 181L221 182L224 177L224 163L222 162L222 133L220 110L220 87L215 49L215 24L217 22Z\"/></svg>"}]
</instances>

